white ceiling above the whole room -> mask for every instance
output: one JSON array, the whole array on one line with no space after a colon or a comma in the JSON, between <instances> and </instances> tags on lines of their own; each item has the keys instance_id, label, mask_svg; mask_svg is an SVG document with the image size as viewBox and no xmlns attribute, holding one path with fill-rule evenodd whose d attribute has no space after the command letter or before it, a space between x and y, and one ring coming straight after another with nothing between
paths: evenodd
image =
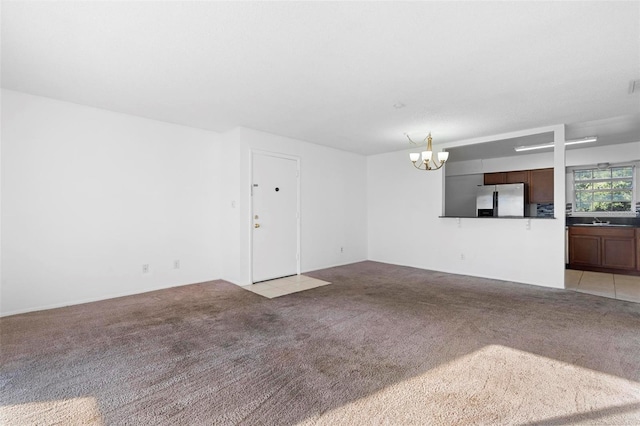
<instances>
[{"instance_id":1,"label":"white ceiling above the whole room","mask_svg":"<svg viewBox=\"0 0 640 426\"><path fill-rule=\"evenodd\" d=\"M4 88L218 132L640 140L637 1L2 1L1 31Z\"/></svg>"}]
</instances>

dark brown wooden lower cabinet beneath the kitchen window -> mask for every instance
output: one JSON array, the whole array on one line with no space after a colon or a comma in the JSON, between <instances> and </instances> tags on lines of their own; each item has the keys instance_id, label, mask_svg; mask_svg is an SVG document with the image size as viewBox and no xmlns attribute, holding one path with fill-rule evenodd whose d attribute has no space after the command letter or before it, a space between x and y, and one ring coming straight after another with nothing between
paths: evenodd
<instances>
[{"instance_id":1,"label":"dark brown wooden lower cabinet beneath the kitchen window","mask_svg":"<svg viewBox=\"0 0 640 426\"><path fill-rule=\"evenodd\" d=\"M640 265L633 228L569 227L569 266L635 271Z\"/></svg>"}]
</instances>

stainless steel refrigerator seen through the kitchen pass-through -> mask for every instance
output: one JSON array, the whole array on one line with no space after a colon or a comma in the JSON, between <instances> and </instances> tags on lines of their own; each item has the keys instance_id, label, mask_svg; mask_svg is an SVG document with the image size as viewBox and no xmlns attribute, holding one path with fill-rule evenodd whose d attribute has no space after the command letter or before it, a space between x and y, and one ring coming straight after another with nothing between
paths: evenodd
<instances>
[{"instance_id":1,"label":"stainless steel refrigerator seen through the kitchen pass-through","mask_svg":"<svg viewBox=\"0 0 640 426\"><path fill-rule=\"evenodd\" d=\"M525 204L524 183L481 185L476 196L476 216L524 217Z\"/></svg>"}]
</instances>

